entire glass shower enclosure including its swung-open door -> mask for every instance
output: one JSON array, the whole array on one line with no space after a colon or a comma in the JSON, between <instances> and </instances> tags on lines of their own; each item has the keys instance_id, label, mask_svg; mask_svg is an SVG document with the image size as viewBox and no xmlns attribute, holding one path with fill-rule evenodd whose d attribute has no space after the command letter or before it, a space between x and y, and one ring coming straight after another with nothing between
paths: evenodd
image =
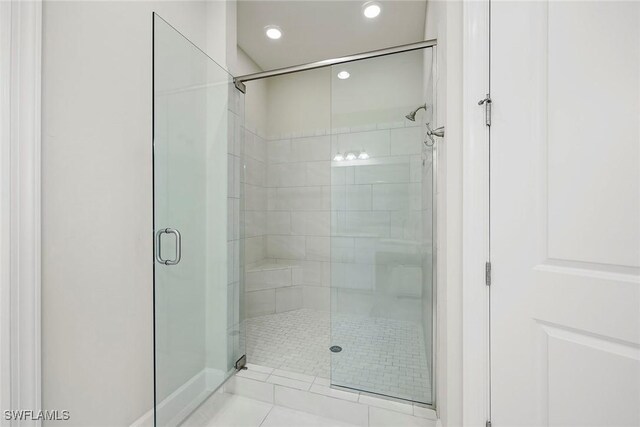
<instances>
[{"instance_id":1,"label":"entire glass shower enclosure including its swung-open door","mask_svg":"<svg viewBox=\"0 0 640 427\"><path fill-rule=\"evenodd\" d=\"M435 405L435 42L234 79L153 19L155 424L245 362Z\"/></svg>"}]
</instances>

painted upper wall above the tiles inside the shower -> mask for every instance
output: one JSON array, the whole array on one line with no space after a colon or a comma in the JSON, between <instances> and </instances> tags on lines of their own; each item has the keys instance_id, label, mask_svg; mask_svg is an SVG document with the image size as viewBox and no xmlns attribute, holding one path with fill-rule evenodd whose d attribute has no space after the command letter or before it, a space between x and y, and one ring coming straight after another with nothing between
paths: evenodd
<instances>
[{"instance_id":1,"label":"painted upper wall above the tiles inside the shower","mask_svg":"<svg viewBox=\"0 0 640 427\"><path fill-rule=\"evenodd\" d=\"M393 55L266 79L269 139L402 122L407 105L424 103L421 61ZM335 78L341 70L351 77Z\"/></svg>"}]
</instances>

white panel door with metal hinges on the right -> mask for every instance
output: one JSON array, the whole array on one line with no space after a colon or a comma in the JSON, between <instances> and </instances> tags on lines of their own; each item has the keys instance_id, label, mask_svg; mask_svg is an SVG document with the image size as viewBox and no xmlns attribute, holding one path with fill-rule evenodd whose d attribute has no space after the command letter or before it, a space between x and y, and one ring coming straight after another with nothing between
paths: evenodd
<instances>
[{"instance_id":1,"label":"white panel door with metal hinges on the right","mask_svg":"<svg viewBox=\"0 0 640 427\"><path fill-rule=\"evenodd\" d=\"M492 422L640 425L640 2L493 2Z\"/></svg>"}]
</instances>

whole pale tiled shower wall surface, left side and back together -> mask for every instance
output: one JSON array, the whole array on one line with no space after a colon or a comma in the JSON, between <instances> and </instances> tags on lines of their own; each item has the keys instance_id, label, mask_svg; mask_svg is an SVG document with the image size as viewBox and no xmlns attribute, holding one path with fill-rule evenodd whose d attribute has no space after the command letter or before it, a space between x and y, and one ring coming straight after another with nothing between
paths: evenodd
<instances>
[{"instance_id":1,"label":"whole pale tiled shower wall surface, left side and back together","mask_svg":"<svg viewBox=\"0 0 640 427\"><path fill-rule=\"evenodd\" d=\"M397 257L381 259L381 251L420 252L419 245L399 249L397 241L420 240L421 128L405 121L339 132L269 141L245 133L249 317L328 310L332 280L334 287L368 294L360 303L365 311L376 277L398 284L394 292L420 295L419 256L403 268L378 264L398 264ZM332 168L337 151L361 150L371 159ZM348 299L343 292L343 306Z\"/></svg>"}]
</instances>

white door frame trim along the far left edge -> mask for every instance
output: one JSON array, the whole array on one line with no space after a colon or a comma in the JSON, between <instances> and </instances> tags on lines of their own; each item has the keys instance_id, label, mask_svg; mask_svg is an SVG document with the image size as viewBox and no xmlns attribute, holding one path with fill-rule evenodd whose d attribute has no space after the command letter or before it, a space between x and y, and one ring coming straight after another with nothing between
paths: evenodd
<instances>
[{"instance_id":1,"label":"white door frame trim along the far left edge","mask_svg":"<svg viewBox=\"0 0 640 427\"><path fill-rule=\"evenodd\" d=\"M34 412L41 409L41 59L41 0L0 2L0 407ZM3 414L4 421L13 424Z\"/></svg>"}]
</instances>

